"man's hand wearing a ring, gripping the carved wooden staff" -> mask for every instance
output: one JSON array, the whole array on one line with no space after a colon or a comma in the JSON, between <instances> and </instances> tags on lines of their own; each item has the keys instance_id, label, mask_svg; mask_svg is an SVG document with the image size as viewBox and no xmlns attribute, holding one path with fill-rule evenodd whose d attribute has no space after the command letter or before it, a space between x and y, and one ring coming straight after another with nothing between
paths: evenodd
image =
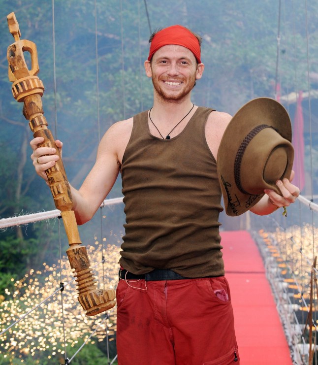
<instances>
[{"instance_id":1,"label":"man's hand wearing a ring, gripping the carved wooden staff","mask_svg":"<svg viewBox=\"0 0 318 365\"><path fill-rule=\"evenodd\" d=\"M49 185L45 171L48 168L54 166L56 161L58 161L60 157L55 154L55 148L39 147L38 145L43 143L43 141L43 137L36 137L32 139L32 141L30 142L31 148L33 150L31 159L33 161L33 166L35 167L36 173L41 176ZM55 144L60 149L60 153L62 156L63 143L59 139L57 139L55 141Z\"/></svg>"}]
</instances>

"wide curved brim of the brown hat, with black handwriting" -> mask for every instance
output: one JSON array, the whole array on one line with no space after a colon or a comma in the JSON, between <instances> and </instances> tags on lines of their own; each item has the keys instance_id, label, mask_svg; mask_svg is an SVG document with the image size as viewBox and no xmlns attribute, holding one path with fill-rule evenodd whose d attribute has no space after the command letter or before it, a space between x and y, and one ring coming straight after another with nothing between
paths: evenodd
<instances>
[{"instance_id":1,"label":"wide curved brim of the brown hat, with black handwriting","mask_svg":"<svg viewBox=\"0 0 318 365\"><path fill-rule=\"evenodd\" d=\"M242 141L259 125L274 128L283 138L291 142L292 130L288 113L278 101L270 98L257 98L243 105L233 116L226 127L217 156L218 176L221 184L225 212L229 216L238 216L251 209L264 195L245 194L236 186L234 163ZM257 154L254 157L257 164ZM285 175L290 176L292 161L288 163ZM251 166L253 173L253 166ZM288 176L287 176L288 175ZM270 186L281 194L275 184Z\"/></svg>"}]
</instances>

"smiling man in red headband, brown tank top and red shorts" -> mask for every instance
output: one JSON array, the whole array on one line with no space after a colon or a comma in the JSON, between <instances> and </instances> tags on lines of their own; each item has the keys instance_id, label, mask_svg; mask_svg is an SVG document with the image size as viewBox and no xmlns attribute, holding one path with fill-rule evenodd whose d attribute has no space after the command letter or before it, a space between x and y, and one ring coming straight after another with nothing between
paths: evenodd
<instances>
[{"instance_id":1,"label":"smiling man in red headband, brown tank top and red shorts","mask_svg":"<svg viewBox=\"0 0 318 365\"><path fill-rule=\"evenodd\" d=\"M231 116L191 102L203 74L200 38L172 26L151 38L145 70L154 85L150 111L115 123L103 136L94 167L71 188L78 224L90 220L123 180L126 235L117 288L119 364L239 364L233 311L224 277L218 222L221 188L216 157ZM37 148L36 172L54 166ZM62 143L57 141L62 148ZM251 209L269 214L299 195L278 181Z\"/></svg>"}]
</instances>

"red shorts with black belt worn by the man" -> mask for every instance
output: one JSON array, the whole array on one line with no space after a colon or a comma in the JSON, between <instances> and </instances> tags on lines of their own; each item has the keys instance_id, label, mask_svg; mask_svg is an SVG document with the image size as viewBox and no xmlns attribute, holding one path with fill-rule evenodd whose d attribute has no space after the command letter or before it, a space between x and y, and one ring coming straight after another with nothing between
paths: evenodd
<instances>
[{"instance_id":1,"label":"red shorts with black belt worn by the man","mask_svg":"<svg viewBox=\"0 0 318 365\"><path fill-rule=\"evenodd\" d=\"M120 280L119 365L237 365L230 292L224 276Z\"/></svg>"}]
</instances>

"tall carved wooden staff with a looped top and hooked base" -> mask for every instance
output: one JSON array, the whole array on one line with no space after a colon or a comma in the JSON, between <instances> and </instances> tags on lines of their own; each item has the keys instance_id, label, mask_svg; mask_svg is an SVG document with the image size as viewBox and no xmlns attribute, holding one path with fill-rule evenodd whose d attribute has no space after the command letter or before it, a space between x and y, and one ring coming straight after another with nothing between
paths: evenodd
<instances>
[{"instance_id":1,"label":"tall carved wooden staff with a looped top and hooked base","mask_svg":"<svg viewBox=\"0 0 318 365\"><path fill-rule=\"evenodd\" d=\"M15 14L7 16L9 31L15 42L8 47L9 80L13 82L12 93L15 100L24 102L23 115L28 119L34 137L43 137L44 142L39 147L54 147L60 156L55 166L46 170L55 206L61 210L69 248L67 256L77 281L78 300L86 314L93 316L104 312L115 305L115 291L99 290L90 268L90 260L86 247L81 246L74 211L72 196L66 178L60 151L57 148L47 121L43 116L41 97L44 92L42 81L36 76L39 71L36 45L30 40L20 40L19 24ZM23 52L31 54L31 70L28 69Z\"/></svg>"}]
</instances>

